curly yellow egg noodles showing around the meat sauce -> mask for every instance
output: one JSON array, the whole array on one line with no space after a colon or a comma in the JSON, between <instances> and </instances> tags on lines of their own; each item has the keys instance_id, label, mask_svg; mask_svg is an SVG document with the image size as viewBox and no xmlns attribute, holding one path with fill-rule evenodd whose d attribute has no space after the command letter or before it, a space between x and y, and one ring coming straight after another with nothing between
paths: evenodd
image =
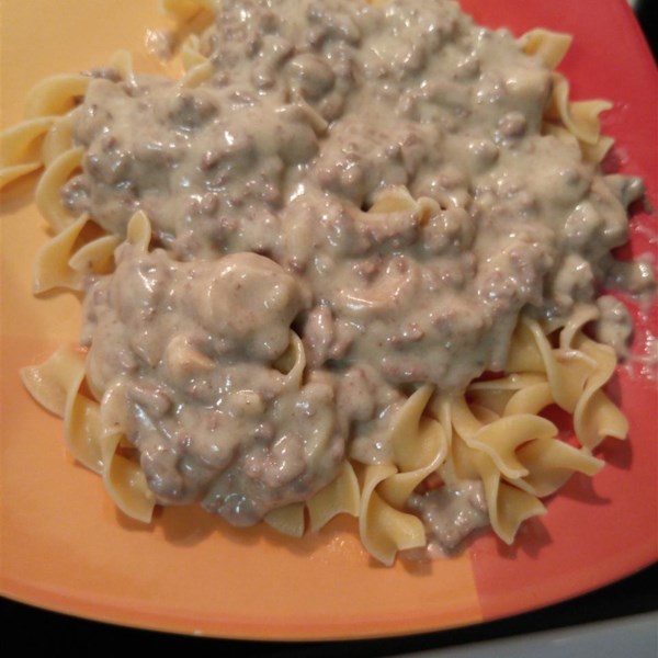
<instances>
[{"instance_id":1,"label":"curly yellow egg noodles showing around the meat sauce","mask_svg":"<svg viewBox=\"0 0 658 658\"><path fill-rule=\"evenodd\" d=\"M161 7L179 25L178 48L185 72L178 86L195 89L215 70L202 46L213 24L215 2L163 0ZM518 48L555 69L570 41L564 34L534 30L518 38ZM135 83L137 75L127 53L117 53L106 68L120 82ZM73 138L73 121L92 80L81 73L43 80L26 101L25 120L0 135L0 185L43 170L35 202L53 235L35 263L36 294L82 293L90 277L113 272L117 249L128 250L135 259L148 258L154 249L147 211L135 212L122 235L106 230L89 213L71 213L63 202L61 189L84 167L86 149ZM542 134L579 148L585 161L600 162L612 140L601 136L599 114L610 103L571 101L568 81L556 71ZM385 189L367 209L373 217L406 214L420 224L433 212L431 200L415 197L404 185ZM368 554L392 565L399 552L432 543L413 501L427 491L462 491L464 483L479 483L485 504L478 512L483 519L474 527L490 525L511 544L525 520L546 513L542 500L572 474L593 476L603 467L593 453L605 438L626 438L628 423L604 390L616 355L585 331L597 317L591 304L557 320L522 311L502 372L486 373L457 392L443 390L440 382L429 381L405 387L406 401L388 421L388 460L365 463L348 456L329 484L268 510L263 520L300 537L337 514L350 514L358 518ZM288 348L276 367L283 386L293 390L303 386L307 354L296 329L290 330ZM149 487L120 412L89 377L87 349L63 345L45 363L25 367L22 379L37 402L64 419L71 455L102 477L118 508L131 518L150 522L158 496ZM574 440L565 440L544 413L555 407L572 418Z\"/></svg>"}]
</instances>

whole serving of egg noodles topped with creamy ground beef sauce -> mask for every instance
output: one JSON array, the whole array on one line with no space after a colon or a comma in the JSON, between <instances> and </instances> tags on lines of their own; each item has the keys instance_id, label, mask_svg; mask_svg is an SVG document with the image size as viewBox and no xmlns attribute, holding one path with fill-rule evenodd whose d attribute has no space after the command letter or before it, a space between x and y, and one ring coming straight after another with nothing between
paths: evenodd
<instances>
[{"instance_id":1,"label":"whole serving of egg noodles topped with creamy ground beef sauce","mask_svg":"<svg viewBox=\"0 0 658 658\"><path fill-rule=\"evenodd\" d=\"M447 0L162 7L201 25L182 78L118 53L2 134L2 184L44 168L36 291L83 294L83 349L25 385L143 521L347 513L387 565L512 543L626 436L604 386L632 322L603 286L654 285L612 257L643 184L602 171L610 105L570 101L569 37Z\"/></svg>"}]
</instances>

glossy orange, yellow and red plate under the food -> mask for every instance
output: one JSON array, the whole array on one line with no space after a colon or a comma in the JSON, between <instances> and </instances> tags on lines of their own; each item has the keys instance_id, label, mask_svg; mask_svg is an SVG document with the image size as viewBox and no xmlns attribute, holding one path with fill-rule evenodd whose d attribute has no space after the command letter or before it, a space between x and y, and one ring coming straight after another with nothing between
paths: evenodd
<instances>
[{"instance_id":1,"label":"glossy orange, yellow and red plate under the food","mask_svg":"<svg viewBox=\"0 0 658 658\"><path fill-rule=\"evenodd\" d=\"M120 48L146 61L147 30L164 26L156 0L3 0L1 122L21 118L44 76L102 65ZM572 98L606 98L614 166L642 175L658 207L655 65L624 0L464 0L483 24L576 36L560 67ZM151 65L152 66L152 65ZM653 99L653 101L651 101ZM339 639L476 624L538 609L658 557L655 381L620 367L615 394L631 419L627 442L604 444L609 465L574 477L548 514L510 548L478 538L460 557L409 567L373 564L351 522L286 541L234 530L202 511L168 509L152 525L126 520L100 479L67 456L59 419L27 396L18 371L78 333L70 295L33 298L31 269L45 239L33 181L2 196L0 593L115 624L250 639ZM657 218L638 212L632 250L656 251ZM656 305L646 327L658 333ZM635 368L637 370L637 368Z\"/></svg>"}]
</instances>

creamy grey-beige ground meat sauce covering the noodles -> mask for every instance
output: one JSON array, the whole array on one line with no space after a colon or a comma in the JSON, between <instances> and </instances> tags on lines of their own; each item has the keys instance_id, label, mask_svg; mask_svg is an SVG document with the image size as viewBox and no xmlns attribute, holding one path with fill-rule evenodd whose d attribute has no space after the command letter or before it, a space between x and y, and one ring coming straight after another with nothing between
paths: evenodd
<instances>
[{"instance_id":1,"label":"creamy grey-beige ground meat sauce covering the noodles","mask_svg":"<svg viewBox=\"0 0 658 658\"><path fill-rule=\"evenodd\" d=\"M92 81L63 198L151 220L158 249L90 283L91 381L160 501L246 524L388 460L408 393L502 368L522 310L593 303L642 183L541 135L548 69L453 2L226 0L202 49L194 89ZM367 212L398 186L426 212Z\"/></svg>"}]
</instances>

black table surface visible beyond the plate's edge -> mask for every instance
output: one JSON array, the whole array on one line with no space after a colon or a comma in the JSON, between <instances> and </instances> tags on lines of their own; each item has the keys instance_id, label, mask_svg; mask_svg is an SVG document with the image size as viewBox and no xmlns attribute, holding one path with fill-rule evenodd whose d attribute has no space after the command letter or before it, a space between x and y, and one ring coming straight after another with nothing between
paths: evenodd
<instances>
[{"instance_id":1,"label":"black table surface visible beyond the plate's edge","mask_svg":"<svg viewBox=\"0 0 658 658\"><path fill-rule=\"evenodd\" d=\"M638 20L645 30L654 55L658 53L656 38L656 0L635 3ZM658 543L658 537L657 537ZM458 647L508 638L543 631L572 628L592 622L605 622L658 611L658 564L637 574L601 588L582 597L537 611L509 619L407 637L393 637L348 643L257 643L212 638L188 637L167 633L155 633L126 628L33 608L0 598L0 628L2 644L9 647L12 639L21 642L48 656L110 654L125 647L136 650L170 649L194 651L206 650L220 657L226 656L286 656L314 657L383 657L412 654L415 651Z\"/></svg>"}]
</instances>

